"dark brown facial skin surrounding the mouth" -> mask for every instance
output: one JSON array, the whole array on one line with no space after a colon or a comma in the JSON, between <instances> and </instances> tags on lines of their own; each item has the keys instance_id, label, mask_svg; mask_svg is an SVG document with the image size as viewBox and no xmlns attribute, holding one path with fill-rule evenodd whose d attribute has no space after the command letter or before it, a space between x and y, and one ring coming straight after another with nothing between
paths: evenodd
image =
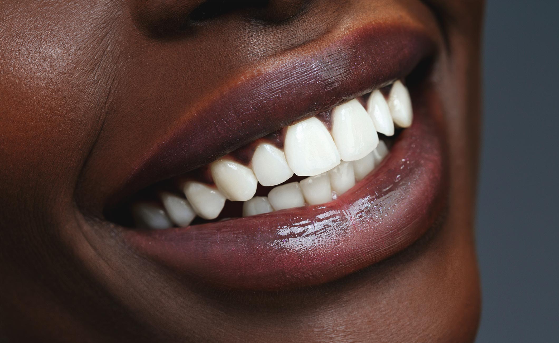
<instances>
[{"instance_id":1,"label":"dark brown facial skin surrounding the mouth","mask_svg":"<svg viewBox=\"0 0 559 343\"><path fill-rule=\"evenodd\" d=\"M482 4L274 3L186 29L172 24L197 6L0 4L2 336L473 341ZM346 278L274 294L186 287L111 235L103 206L131 161L178 121L199 120L184 106L196 109L229 84L372 21L423 25L440 43L432 78L444 107L449 199L439 229Z\"/></svg>"}]
</instances>

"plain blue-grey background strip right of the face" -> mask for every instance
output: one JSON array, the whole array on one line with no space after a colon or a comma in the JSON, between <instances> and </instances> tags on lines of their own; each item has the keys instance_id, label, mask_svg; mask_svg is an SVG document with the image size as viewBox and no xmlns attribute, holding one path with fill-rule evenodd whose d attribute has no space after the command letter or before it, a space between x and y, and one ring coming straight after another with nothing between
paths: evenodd
<instances>
[{"instance_id":1,"label":"plain blue-grey background strip right of the face","mask_svg":"<svg viewBox=\"0 0 559 343\"><path fill-rule=\"evenodd\" d=\"M559 2L487 2L476 343L558 341Z\"/></svg>"}]
</instances>

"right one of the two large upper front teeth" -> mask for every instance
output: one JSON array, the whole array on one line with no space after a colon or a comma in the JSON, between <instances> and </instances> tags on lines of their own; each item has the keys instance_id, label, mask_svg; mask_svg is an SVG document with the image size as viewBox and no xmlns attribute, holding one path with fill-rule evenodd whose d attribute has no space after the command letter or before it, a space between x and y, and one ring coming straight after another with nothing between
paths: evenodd
<instances>
[{"instance_id":1,"label":"right one of the two large upper front teeth","mask_svg":"<svg viewBox=\"0 0 559 343\"><path fill-rule=\"evenodd\" d=\"M357 99L332 110L332 137L343 161L363 158L378 144L375 125Z\"/></svg>"}]
</instances>

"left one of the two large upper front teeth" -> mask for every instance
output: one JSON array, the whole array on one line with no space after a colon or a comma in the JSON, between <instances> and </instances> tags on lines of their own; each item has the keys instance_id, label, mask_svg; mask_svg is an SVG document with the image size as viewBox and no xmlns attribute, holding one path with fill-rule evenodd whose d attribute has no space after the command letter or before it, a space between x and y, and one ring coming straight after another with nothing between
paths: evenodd
<instances>
[{"instance_id":1,"label":"left one of the two large upper front teeth","mask_svg":"<svg viewBox=\"0 0 559 343\"><path fill-rule=\"evenodd\" d=\"M299 176L315 176L339 165L340 154L332 136L320 120L312 117L288 126L285 157Z\"/></svg>"}]
</instances>

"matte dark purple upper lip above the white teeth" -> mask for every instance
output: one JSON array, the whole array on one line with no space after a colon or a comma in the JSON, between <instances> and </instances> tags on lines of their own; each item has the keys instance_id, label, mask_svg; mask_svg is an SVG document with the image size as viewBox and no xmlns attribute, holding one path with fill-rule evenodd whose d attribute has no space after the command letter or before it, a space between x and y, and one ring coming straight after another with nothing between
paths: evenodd
<instances>
[{"instance_id":1,"label":"matte dark purple upper lip above the white teeth","mask_svg":"<svg viewBox=\"0 0 559 343\"><path fill-rule=\"evenodd\" d=\"M107 201L205 165L293 121L404 78L436 44L417 27L366 26L263 67L185 110ZM306 48L305 51L311 49Z\"/></svg>"}]
</instances>

